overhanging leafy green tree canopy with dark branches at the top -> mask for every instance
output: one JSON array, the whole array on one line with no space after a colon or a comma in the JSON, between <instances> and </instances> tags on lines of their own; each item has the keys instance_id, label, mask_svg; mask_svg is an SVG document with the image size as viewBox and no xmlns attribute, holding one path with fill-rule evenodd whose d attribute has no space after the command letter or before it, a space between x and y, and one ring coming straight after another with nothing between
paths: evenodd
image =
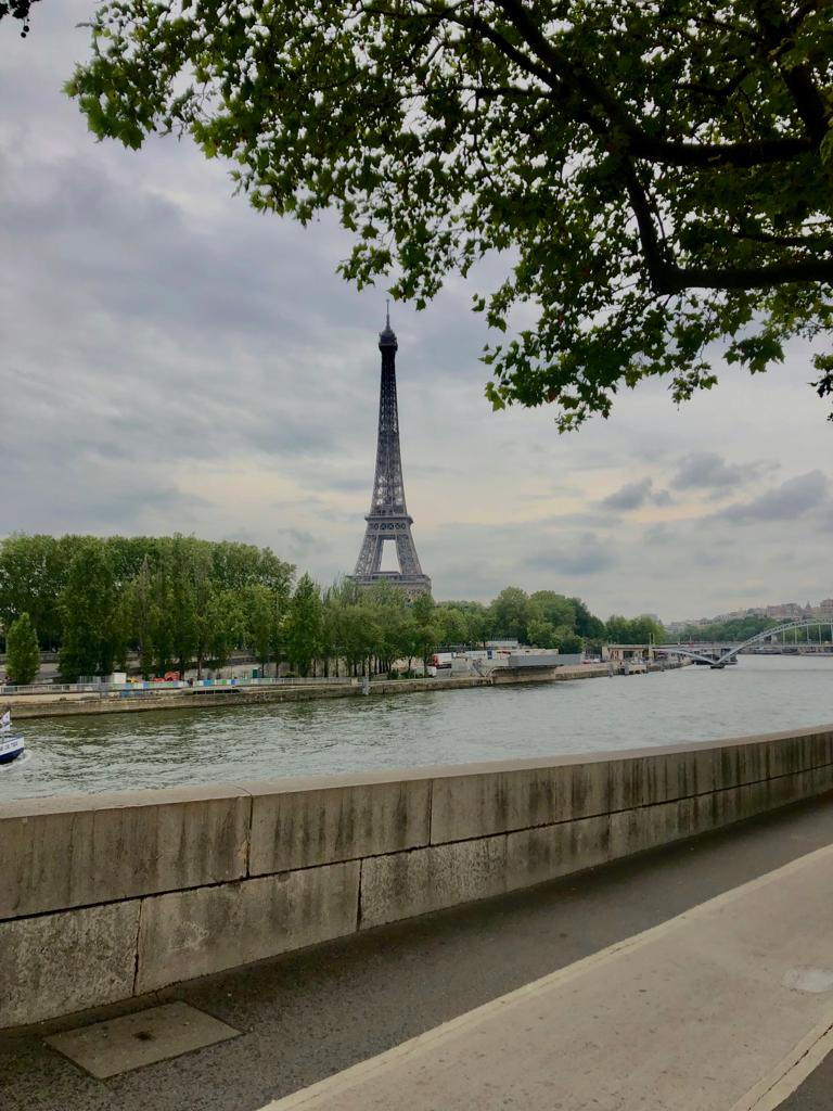
<instances>
[{"instance_id":1,"label":"overhanging leafy green tree canopy with dark branches at the top","mask_svg":"<svg viewBox=\"0 0 833 1111\"><path fill-rule=\"evenodd\" d=\"M827 0L112 0L91 31L68 91L97 136L190 132L255 208L337 209L360 286L420 308L496 253L496 408L569 429L831 324Z\"/></svg>"}]
</instances>

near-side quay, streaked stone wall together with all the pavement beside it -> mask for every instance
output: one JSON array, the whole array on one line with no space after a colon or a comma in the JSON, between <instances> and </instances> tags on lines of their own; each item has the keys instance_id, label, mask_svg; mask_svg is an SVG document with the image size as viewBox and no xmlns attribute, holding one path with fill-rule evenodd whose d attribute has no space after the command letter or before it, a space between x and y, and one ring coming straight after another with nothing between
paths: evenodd
<instances>
[{"instance_id":1,"label":"near-side quay, streaked stone wall together with all the pavement beside it","mask_svg":"<svg viewBox=\"0 0 833 1111\"><path fill-rule=\"evenodd\" d=\"M827 1111L832 790L819 727L7 803L3 1108ZM54 1048L171 1003L233 1037Z\"/></svg>"}]
</instances>

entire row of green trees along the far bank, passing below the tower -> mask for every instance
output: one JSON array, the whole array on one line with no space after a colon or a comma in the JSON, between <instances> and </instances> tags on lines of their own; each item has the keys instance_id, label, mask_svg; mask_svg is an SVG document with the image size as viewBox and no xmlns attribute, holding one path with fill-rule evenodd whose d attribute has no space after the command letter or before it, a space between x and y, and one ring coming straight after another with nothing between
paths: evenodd
<instances>
[{"instance_id":1,"label":"entire row of green trees along the far bank, passing below the tower","mask_svg":"<svg viewBox=\"0 0 833 1111\"><path fill-rule=\"evenodd\" d=\"M299 674L423 664L438 648L519 640L578 652L605 640L662 638L650 618L605 624L579 598L508 587L490 603L409 603L389 583L351 580L322 588L268 548L193 537L16 534L0 542L0 621L7 674L27 682L39 650L58 651L61 677L124 670L133 655L145 678L222 668L235 649Z\"/></svg>"}]
</instances>

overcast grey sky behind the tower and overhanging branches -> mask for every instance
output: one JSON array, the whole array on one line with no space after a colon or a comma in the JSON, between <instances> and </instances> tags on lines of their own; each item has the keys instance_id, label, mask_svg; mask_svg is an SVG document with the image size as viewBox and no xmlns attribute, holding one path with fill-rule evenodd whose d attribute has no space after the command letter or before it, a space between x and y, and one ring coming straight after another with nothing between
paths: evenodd
<instances>
[{"instance_id":1,"label":"overcast grey sky behind the tower and overhanging branches","mask_svg":"<svg viewBox=\"0 0 833 1111\"><path fill-rule=\"evenodd\" d=\"M61 92L89 0L0 24L0 532L180 530L269 544L321 581L350 571L375 452L384 290L232 196L189 143L96 143ZM392 308L408 506L439 599L509 583L665 620L833 595L833 424L807 351L666 384L560 437L492 413L486 340L454 283Z\"/></svg>"}]
</instances>

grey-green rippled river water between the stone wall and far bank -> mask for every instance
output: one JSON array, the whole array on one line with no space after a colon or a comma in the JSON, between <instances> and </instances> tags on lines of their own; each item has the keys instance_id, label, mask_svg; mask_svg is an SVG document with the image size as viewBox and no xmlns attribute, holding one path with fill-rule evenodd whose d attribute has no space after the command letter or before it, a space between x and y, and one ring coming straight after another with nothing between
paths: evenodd
<instances>
[{"instance_id":1,"label":"grey-green rippled river water between the stone wall and far bank","mask_svg":"<svg viewBox=\"0 0 833 1111\"><path fill-rule=\"evenodd\" d=\"M833 722L833 659L21 722L0 800L704 741Z\"/></svg>"}]
</instances>

